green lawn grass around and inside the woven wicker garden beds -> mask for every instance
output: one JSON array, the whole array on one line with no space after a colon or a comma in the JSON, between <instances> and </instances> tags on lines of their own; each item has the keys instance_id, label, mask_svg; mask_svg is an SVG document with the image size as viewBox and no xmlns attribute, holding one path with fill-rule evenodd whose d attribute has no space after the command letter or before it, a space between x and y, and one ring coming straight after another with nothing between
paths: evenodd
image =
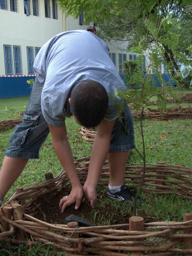
<instances>
[{"instance_id":1,"label":"green lawn grass around and inside the woven wicker garden beds","mask_svg":"<svg viewBox=\"0 0 192 256\"><path fill-rule=\"evenodd\" d=\"M18 113L25 110L23 107L27 106L27 102L28 97L0 99L1 120L18 118ZM182 103L180 105L187 106L191 104ZM74 158L78 159L90 156L91 144L83 141L79 131L80 126L74 121L73 117L66 119L66 127L68 132L68 140ZM192 168L191 127L192 119L166 121L144 119L143 129L145 136L146 162L149 164L154 164L164 161L166 164ZM9 145L9 138L12 131L13 129L0 131L1 162L4 157L5 150ZM140 134L139 120L135 120L135 142L137 149L142 152L143 145ZM136 150L131 151L128 161L129 163L142 163L142 159ZM51 172L55 177L58 175L61 169L62 166L60 165L56 154L54 153L51 136L49 134L47 140L40 149L40 158L36 160L30 160L28 162L20 177L6 194L5 200L15 192L16 187L28 187L34 184L39 184L45 181L45 173ZM105 193L105 189L103 189L103 191ZM159 219L164 221L182 221L183 213L192 212L191 202L186 199L181 199L176 195L154 196L151 194L142 194L141 197L144 198L144 203L138 208L137 214L140 216L151 216L154 221ZM105 196L102 197L102 200L105 204ZM102 200L99 200L98 203L102 203ZM123 207L117 205L118 211L120 208L122 208L122 211L125 210ZM95 216L93 216L93 222L97 217L99 225L104 225L105 221L108 221L109 218L113 218L112 213L110 216L99 216L99 218L98 216L99 212L95 213ZM27 245L16 246L14 247L14 250L24 251L26 250L25 246ZM11 248L6 250L12 250ZM36 250L36 247L33 249ZM14 250L13 252L15 252ZM44 252L38 255L50 255L48 252L44 254L43 253ZM2 251L2 249L0 249L0 255L3 256L9 254L6 254L4 251ZM35 254L19 254L17 252L15 255Z\"/></svg>"}]
</instances>

